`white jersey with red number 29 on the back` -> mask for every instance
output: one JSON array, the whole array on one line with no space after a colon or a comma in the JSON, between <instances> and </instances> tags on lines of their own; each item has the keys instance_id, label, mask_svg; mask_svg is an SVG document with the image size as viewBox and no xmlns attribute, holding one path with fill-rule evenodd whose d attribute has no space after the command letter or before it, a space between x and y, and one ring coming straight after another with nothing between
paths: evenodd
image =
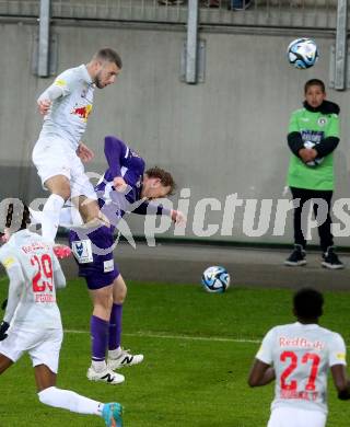
<instances>
[{"instance_id":1,"label":"white jersey with red number 29 on the back","mask_svg":"<svg viewBox=\"0 0 350 427\"><path fill-rule=\"evenodd\" d=\"M11 325L24 326L27 331L61 328L54 282L60 265L51 245L39 234L21 230L1 246L0 262L7 270L20 267L24 277Z\"/></svg>"}]
</instances>

